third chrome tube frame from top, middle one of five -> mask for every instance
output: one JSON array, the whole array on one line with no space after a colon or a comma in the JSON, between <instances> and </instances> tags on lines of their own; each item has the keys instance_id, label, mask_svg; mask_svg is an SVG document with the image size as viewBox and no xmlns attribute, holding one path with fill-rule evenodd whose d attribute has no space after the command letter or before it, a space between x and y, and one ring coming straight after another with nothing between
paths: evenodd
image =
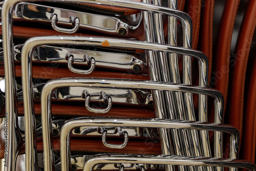
<instances>
[{"instance_id":1,"label":"third chrome tube frame from top, middle one of five","mask_svg":"<svg viewBox=\"0 0 256 171\"><path fill-rule=\"evenodd\" d=\"M186 86L184 84L172 84L166 82L152 82L152 81L125 81L125 80L112 80L112 79L83 79L83 78L65 78L65 79L55 79L48 81L45 87L42 89L41 95L41 122L42 122L42 137L44 144L44 162L45 170L51 170L53 161L53 148L50 142L52 138L52 125L51 123L51 93L54 89L58 87L66 86L84 86L84 87L102 87L102 88L127 88L127 89L145 89L145 90L162 90L162 91L177 91L177 92L189 92L195 94L209 95L215 98L215 106L217 111L215 111L218 117L223 116L223 96L220 92L212 89ZM30 114L31 115L31 114Z\"/></svg>"}]
</instances>

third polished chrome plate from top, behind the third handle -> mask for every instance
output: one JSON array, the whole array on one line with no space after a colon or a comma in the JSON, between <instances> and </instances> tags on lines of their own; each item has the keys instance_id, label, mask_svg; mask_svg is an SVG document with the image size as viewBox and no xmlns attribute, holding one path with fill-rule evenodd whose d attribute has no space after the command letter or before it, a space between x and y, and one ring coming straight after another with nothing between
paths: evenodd
<instances>
[{"instance_id":1,"label":"third polished chrome plate from top, behind the third handle","mask_svg":"<svg viewBox=\"0 0 256 171\"><path fill-rule=\"evenodd\" d=\"M33 79L34 80L34 79ZM3 83L5 80L2 81ZM20 86L21 82L16 81L16 83ZM33 86L33 99L40 100L40 94L42 88L45 83L34 84ZM4 87L3 87L4 89ZM127 89L104 89L104 88L92 88L87 87L64 87L58 88L53 91L52 99L55 101L84 101L82 93L84 90L90 92L90 101L91 102L100 102L102 101L99 98L100 92L104 91L106 95L111 96L113 104L121 104L121 105L133 105L133 106L141 106L143 108L152 108L151 102L153 102L153 97L150 91L145 90L127 90ZM1 94L3 98L5 98L5 94ZM37 96L38 95L38 96ZM17 101L23 102L23 90L22 88L17 89Z\"/></svg>"}]
</instances>

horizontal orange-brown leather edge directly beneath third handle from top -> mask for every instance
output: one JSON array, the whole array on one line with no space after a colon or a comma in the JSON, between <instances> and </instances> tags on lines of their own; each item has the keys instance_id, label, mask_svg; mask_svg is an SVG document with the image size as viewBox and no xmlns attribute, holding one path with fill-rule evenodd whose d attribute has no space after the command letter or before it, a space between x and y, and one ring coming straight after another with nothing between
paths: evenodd
<instances>
[{"instance_id":1,"label":"horizontal orange-brown leather edge directly beneath third handle from top","mask_svg":"<svg viewBox=\"0 0 256 171\"><path fill-rule=\"evenodd\" d=\"M41 114L41 104L34 104L35 115ZM18 106L18 115L24 115L24 106ZM52 115L53 116L94 116L94 117L134 117L134 118L155 118L156 114L154 109L142 109L142 108L118 108L113 107L107 114L96 114L86 110L81 105L62 105L52 104ZM0 116L3 117L3 116Z\"/></svg>"}]
</instances>

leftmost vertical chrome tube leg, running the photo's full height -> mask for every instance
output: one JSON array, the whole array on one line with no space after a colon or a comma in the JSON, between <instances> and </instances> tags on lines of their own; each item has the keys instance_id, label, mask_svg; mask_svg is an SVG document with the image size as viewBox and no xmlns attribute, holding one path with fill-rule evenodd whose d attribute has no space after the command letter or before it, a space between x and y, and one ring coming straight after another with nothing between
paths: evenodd
<instances>
[{"instance_id":1,"label":"leftmost vertical chrome tube leg, running the photo's full height","mask_svg":"<svg viewBox=\"0 0 256 171\"><path fill-rule=\"evenodd\" d=\"M5 137L5 171L15 170L16 158L22 139L18 137L17 129L17 102L16 102L16 84L13 58L13 41L12 41L12 11L11 1L5 1L2 7L2 35L3 35L3 52L5 67L5 103L8 133ZM7 151L7 152L6 152Z\"/></svg>"}]
</instances>

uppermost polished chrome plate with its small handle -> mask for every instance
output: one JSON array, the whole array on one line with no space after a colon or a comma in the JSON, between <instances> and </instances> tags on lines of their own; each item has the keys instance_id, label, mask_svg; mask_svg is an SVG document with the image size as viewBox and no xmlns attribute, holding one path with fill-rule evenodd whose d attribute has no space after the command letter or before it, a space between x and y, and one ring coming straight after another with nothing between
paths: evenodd
<instances>
[{"instance_id":1,"label":"uppermost polished chrome plate with its small handle","mask_svg":"<svg viewBox=\"0 0 256 171\"><path fill-rule=\"evenodd\" d=\"M115 35L120 35L120 29L123 29L125 34L127 34L129 29L136 29L140 24L140 20L137 25L132 25L125 23L121 17L91 14L31 3L17 4L15 7L15 15L17 18L27 20L51 22L52 28L62 33L75 33L79 28L82 28L101 33L114 33ZM74 28L60 28L56 26L58 23L67 26L73 25ZM125 34L122 34L122 36Z\"/></svg>"}]
</instances>

